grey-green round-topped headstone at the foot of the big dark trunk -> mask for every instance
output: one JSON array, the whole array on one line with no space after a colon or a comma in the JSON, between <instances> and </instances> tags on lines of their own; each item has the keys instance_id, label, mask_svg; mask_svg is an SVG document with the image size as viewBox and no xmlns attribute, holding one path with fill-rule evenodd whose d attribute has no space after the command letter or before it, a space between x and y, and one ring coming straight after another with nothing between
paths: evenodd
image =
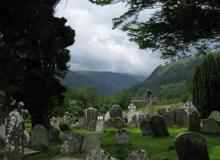
<instances>
[{"instance_id":1,"label":"grey-green round-topped headstone at the foot of the big dark trunk","mask_svg":"<svg viewBox=\"0 0 220 160\"><path fill-rule=\"evenodd\" d=\"M47 129L37 124L31 133L31 143L32 148L39 151L44 151L48 149L49 146L49 135Z\"/></svg>"}]
</instances>

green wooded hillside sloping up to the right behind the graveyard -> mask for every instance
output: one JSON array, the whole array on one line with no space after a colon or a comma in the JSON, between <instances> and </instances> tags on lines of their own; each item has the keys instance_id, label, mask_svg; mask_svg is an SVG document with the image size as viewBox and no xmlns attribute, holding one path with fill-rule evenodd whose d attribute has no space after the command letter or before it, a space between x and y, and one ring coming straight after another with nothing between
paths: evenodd
<instances>
[{"instance_id":1,"label":"green wooded hillside sloping up to the right behind the graveyard","mask_svg":"<svg viewBox=\"0 0 220 160\"><path fill-rule=\"evenodd\" d=\"M158 66L142 83L129 91L136 97L145 97L147 90L153 91L157 100L185 101L191 98L191 85L196 67L204 56L186 57Z\"/></svg>"}]
</instances>

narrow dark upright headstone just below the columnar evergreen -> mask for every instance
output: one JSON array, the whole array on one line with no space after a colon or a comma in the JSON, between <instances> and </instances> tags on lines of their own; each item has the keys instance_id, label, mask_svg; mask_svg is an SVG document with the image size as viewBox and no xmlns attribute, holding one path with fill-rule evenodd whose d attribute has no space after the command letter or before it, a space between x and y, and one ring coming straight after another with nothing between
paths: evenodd
<instances>
[{"instance_id":1,"label":"narrow dark upright headstone just below the columnar evergreen","mask_svg":"<svg viewBox=\"0 0 220 160\"><path fill-rule=\"evenodd\" d=\"M189 131L195 131L199 132L200 131L200 116L199 113L194 111L191 113L189 116Z\"/></svg>"}]
</instances>

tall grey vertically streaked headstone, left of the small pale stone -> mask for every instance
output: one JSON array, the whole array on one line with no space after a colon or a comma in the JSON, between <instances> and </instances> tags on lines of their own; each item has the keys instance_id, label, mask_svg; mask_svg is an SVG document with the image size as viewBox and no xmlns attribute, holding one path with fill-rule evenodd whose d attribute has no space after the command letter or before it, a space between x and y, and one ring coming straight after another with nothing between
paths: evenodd
<instances>
[{"instance_id":1,"label":"tall grey vertically streaked headstone, left of the small pale stone","mask_svg":"<svg viewBox=\"0 0 220 160\"><path fill-rule=\"evenodd\" d=\"M96 121L98 119L97 109L89 107L84 111L84 125L89 130L95 130Z\"/></svg>"}]
</instances>

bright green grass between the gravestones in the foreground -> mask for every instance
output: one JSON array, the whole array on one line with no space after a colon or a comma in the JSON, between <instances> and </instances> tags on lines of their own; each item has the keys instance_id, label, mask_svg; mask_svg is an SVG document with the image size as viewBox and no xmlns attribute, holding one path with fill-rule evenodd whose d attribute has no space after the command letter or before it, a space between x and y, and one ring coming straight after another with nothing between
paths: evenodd
<instances>
[{"instance_id":1,"label":"bright green grass between the gravestones in the foreground","mask_svg":"<svg viewBox=\"0 0 220 160\"><path fill-rule=\"evenodd\" d=\"M115 133L116 129L109 128L100 136L102 138L103 149L114 157L125 159L132 150L145 149L150 155L151 160L162 160L169 158L170 160L177 160L176 151L174 148L174 138L184 131L186 128L178 128L173 126L169 128L169 137L154 138L152 136L142 136L140 129L135 127L126 127L132 133L133 142L131 145L116 144ZM93 134L85 129L74 128L74 131L80 134ZM205 136L209 149L209 156L211 160L220 160L220 136ZM38 155L26 157L25 160L53 160L54 157L60 157L60 144L51 144L48 151L42 152ZM71 156L71 155L69 155ZM0 159L3 159L3 153L0 152Z\"/></svg>"}]
</instances>

